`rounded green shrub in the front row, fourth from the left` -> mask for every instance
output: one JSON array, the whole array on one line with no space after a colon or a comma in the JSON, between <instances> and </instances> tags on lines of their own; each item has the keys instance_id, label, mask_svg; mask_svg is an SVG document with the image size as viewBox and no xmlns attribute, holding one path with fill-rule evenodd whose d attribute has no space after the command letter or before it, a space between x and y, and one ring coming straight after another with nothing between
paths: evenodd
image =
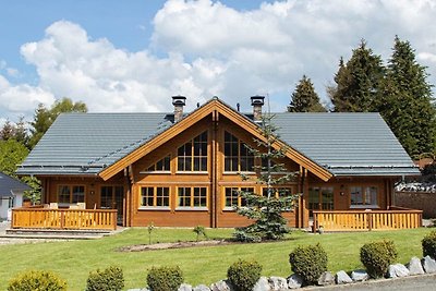
<instances>
[{"instance_id":1,"label":"rounded green shrub in the front row, fourth from the left","mask_svg":"<svg viewBox=\"0 0 436 291\"><path fill-rule=\"evenodd\" d=\"M251 291L261 278L262 266L255 262L239 259L227 270L227 277L237 291Z\"/></svg>"}]
</instances>

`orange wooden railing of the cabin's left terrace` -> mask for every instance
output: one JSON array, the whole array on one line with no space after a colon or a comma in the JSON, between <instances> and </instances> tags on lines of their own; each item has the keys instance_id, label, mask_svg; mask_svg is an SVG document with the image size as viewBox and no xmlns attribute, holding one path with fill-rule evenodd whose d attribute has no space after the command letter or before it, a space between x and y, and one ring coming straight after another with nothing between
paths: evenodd
<instances>
[{"instance_id":1,"label":"orange wooden railing of the cabin's left terrace","mask_svg":"<svg viewBox=\"0 0 436 291\"><path fill-rule=\"evenodd\" d=\"M117 229L117 209L12 209L11 228Z\"/></svg>"}]
</instances>

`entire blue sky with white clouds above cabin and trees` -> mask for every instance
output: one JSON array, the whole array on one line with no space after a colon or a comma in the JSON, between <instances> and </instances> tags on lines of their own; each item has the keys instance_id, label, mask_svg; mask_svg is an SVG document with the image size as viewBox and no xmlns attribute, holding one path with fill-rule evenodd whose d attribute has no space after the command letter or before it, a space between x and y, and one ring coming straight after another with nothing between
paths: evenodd
<instances>
[{"instance_id":1,"label":"entire blue sky with white clouds above cabin and trees","mask_svg":"<svg viewBox=\"0 0 436 291\"><path fill-rule=\"evenodd\" d=\"M62 97L89 112L193 110L218 96L284 111L303 75L322 102L361 39L409 40L436 84L436 0L0 0L0 123Z\"/></svg>"}]
</instances>

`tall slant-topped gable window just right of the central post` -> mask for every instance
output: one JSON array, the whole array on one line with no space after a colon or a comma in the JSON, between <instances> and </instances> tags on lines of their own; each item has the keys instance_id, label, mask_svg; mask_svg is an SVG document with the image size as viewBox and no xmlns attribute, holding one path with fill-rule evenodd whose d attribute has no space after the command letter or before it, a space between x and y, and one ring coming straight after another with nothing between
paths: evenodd
<instances>
[{"instance_id":1,"label":"tall slant-topped gable window just right of the central post","mask_svg":"<svg viewBox=\"0 0 436 291\"><path fill-rule=\"evenodd\" d=\"M235 136L234 134L225 131L225 137L223 137L223 173L254 173L255 172L255 157L253 154L250 153L250 149L246 148L246 143L244 143L241 138ZM227 140L228 135L230 135L230 140ZM233 153L233 144L237 144L237 151ZM228 148L230 149L230 153L227 153ZM242 155L244 151L245 155ZM241 154L242 153L242 154ZM237 159L237 168L233 169L233 160ZM252 169L243 169L242 167L242 161L245 160L246 165L249 165L249 160L252 160ZM227 169L227 166L229 165L230 169Z\"/></svg>"}]
</instances>

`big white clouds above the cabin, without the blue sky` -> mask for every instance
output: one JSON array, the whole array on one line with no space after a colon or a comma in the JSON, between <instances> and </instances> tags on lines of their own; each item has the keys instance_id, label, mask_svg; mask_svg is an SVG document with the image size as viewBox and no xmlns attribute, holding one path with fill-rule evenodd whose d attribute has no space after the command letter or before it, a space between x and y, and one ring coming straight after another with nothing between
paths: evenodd
<instances>
[{"instance_id":1,"label":"big white clouds above the cabin, without the blue sky","mask_svg":"<svg viewBox=\"0 0 436 291\"><path fill-rule=\"evenodd\" d=\"M168 111L179 94L189 97L187 110L214 95L250 110L255 94L269 94L272 110L286 110L303 74L326 101L341 56L348 59L365 38L387 60L395 35L411 41L435 84L435 2L425 0L290 0L250 11L169 0L155 15L149 48L136 52L59 21L21 48L36 68L35 86L0 75L0 110L28 114L38 102L66 96L92 111Z\"/></svg>"}]
</instances>

